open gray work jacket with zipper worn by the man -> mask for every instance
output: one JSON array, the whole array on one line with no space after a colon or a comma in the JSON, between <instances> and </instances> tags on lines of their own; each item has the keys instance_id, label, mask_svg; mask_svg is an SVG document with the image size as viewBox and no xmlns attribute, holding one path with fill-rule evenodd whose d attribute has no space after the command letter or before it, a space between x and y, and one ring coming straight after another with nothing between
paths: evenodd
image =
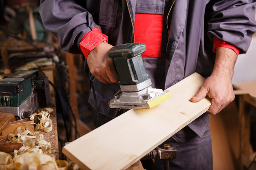
<instances>
[{"instance_id":1,"label":"open gray work jacket with zipper worn by the man","mask_svg":"<svg viewBox=\"0 0 256 170\"><path fill-rule=\"evenodd\" d=\"M111 45L133 41L135 11L157 14L163 2L172 0L41 0L39 12L44 27L54 34L62 49L81 54L79 42L82 37L99 27L108 35ZM212 52L212 37L215 36L239 48L245 53L256 31L254 19L256 0L176 0L169 17L169 35L166 51L165 88L194 72L207 77L211 74L215 54ZM85 71L89 76L86 60ZM99 112L109 117L116 110L108 108L119 85L104 85L93 82ZM95 108L93 94L89 102ZM189 124L202 136L209 125L204 114Z\"/></svg>"}]
</instances>

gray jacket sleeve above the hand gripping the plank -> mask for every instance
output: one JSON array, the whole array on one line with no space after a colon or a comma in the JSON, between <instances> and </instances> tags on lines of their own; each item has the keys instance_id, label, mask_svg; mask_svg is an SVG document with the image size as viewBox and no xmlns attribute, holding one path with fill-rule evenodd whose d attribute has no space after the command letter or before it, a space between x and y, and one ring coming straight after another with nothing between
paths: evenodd
<instances>
[{"instance_id":1,"label":"gray jacket sleeve above the hand gripping the plank","mask_svg":"<svg viewBox=\"0 0 256 170\"><path fill-rule=\"evenodd\" d=\"M214 0L213 0L214 1ZM217 37L246 53L256 31L256 0L215 0L208 21L208 35Z\"/></svg>"}]
</instances>

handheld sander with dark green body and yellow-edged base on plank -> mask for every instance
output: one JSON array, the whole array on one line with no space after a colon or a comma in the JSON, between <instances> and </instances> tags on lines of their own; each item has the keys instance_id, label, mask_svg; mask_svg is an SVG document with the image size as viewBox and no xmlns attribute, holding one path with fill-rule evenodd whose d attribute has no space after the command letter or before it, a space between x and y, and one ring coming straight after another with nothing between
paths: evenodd
<instances>
[{"instance_id":1,"label":"handheld sander with dark green body and yellow-edged base on plank","mask_svg":"<svg viewBox=\"0 0 256 170\"><path fill-rule=\"evenodd\" d=\"M152 88L141 54L143 43L116 45L108 51L119 77L120 90L109 102L111 108L152 108L171 96L169 91Z\"/></svg>"}]
</instances>

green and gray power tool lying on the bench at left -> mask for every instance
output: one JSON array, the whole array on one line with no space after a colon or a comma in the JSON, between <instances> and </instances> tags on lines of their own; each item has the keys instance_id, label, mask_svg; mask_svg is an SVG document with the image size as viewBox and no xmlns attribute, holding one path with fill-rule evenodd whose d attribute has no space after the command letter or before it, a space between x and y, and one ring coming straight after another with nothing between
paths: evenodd
<instances>
[{"instance_id":1,"label":"green and gray power tool lying on the bench at left","mask_svg":"<svg viewBox=\"0 0 256 170\"><path fill-rule=\"evenodd\" d=\"M17 71L0 81L0 112L23 119L50 102L48 77L38 69Z\"/></svg>"}]
</instances>

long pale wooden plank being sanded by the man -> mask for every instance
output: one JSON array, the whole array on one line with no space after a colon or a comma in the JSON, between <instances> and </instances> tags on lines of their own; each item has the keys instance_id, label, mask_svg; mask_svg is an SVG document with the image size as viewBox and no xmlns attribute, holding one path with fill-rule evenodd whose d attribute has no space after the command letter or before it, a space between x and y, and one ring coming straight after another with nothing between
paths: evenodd
<instances>
[{"instance_id":1,"label":"long pale wooden plank being sanded by the man","mask_svg":"<svg viewBox=\"0 0 256 170\"><path fill-rule=\"evenodd\" d=\"M168 90L172 97L151 109L131 109L63 147L83 169L126 169L206 112L208 99L190 102L203 85L195 73Z\"/></svg>"}]
</instances>

